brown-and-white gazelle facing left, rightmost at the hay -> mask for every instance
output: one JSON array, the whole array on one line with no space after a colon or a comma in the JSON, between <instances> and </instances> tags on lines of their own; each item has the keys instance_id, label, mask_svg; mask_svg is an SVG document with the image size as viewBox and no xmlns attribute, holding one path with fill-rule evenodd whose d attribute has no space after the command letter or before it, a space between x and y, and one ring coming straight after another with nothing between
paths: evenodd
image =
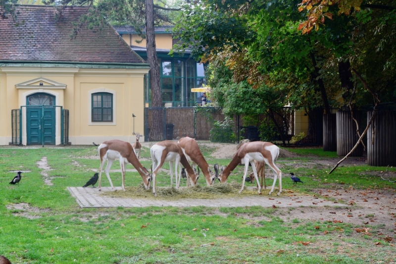
<instances>
[{"instance_id":1,"label":"brown-and-white gazelle facing left, rightmost at the hay","mask_svg":"<svg viewBox=\"0 0 396 264\"><path fill-rule=\"evenodd\" d=\"M279 147L277 147L276 145L270 142L262 142L262 141L247 142L238 149L237 153L234 155L234 158L231 160L230 164L225 168L224 166L222 166L220 168L220 174L217 172L216 175L220 180L220 182L226 182L228 176L238 166L238 164L240 163L245 164L244 179L242 180L242 188L239 191L241 193L242 190L244 189L249 163L251 164L254 177L258 183L257 171L253 161L256 160L258 162L265 162L274 172L274 183L272 184L272 188L269 194L271 194L274 191L276 179L279 177L278 195L280 195L282 192L282 172L275 165L275 161L278 158L278 156L279 156ZM260 193L261 186L260 184L257 185L258 185L258 193Z\"/></svg>"}]
</instances>

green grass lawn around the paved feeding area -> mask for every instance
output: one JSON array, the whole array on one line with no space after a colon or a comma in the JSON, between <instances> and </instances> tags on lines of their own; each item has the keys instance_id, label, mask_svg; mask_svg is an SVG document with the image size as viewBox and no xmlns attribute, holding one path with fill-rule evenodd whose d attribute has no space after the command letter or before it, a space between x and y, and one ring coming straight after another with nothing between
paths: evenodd
<instances>
[{"instance_id":1,"label":"green grass lawn around the paved feeding area","mask_svg":"<svg viewBox=\"0 0 396 264\"><path fill-rule=\"evenodd\" d=\"M225 165L230 161L211 158L213 151L203 147L209 164ZM304 154L314 154L315 159L324 161L335 157L334 153L317 149L304 149ZM99 157L93 157L96 155L94 146L0 148L0 255L13 264L395 263L392 242L382 241L381 246L376 246L378 236L356 234L356 226L327 220L302 221L292 209L82 209L66 187L82 186L94 175L99 168ZM44 157L47 169L38 166ZM373 180L372 174L386 168L345 166L328 175L325 165L309 166L311 159L277 162L284 173L294 172L304 178L304 184L298 185L300 192L341 185L361 189L395 187L389 181ZM141 160L143 166L150 167L147 148L142 149ZM164 168L168 169L169 164ZM115 162L112 169L119 169L119 164ZM394 168L389 170L395 172ZM17 171L23 172L20 183L8 184ZM239 166L229 180L241 181L242 175L243 167ZM121 173L110 176L114 186L121 186ZM168 186L169 178L161 170L157 186ZM141 182L137 172L126 173L126 186ZM205 184L202 175L198 184ZM271 179L267 178L267 184L272 184ZM105 176L102 185L109 186ZM284 189L292 185L291 180L284 179ZM280 219L280 212L293 220ZM376 226L370 227L376 230Z\"/></svg>"}]
</instances>

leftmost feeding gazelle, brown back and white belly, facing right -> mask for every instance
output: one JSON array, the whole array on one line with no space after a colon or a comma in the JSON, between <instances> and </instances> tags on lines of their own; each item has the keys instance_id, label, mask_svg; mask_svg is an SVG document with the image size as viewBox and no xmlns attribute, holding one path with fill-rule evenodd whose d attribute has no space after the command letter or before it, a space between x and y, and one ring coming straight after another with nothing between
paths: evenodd
<instances>
[{"instance_id":1,"label":"leftmost feeding gazelle, brown back and white belly, facing right","mask_svg":"<svg viewBox=\"0 0 396 264\"><path fill-rule=\"evenodd\" d=\"M145 185L146 190L150 187L151 174L148 170L142 166L139 162L138 158L133 151L132 145L129 142L121 141L118 139L108 140L101 143L98 147L98 152L100 156L100 172L99 172L99 191L100 191L100 181L102 175L102 169L104 163L107 160L106 169L104 172L106 173L107 179L110 182L111 188L114 188L113 183L111 182L109 171L111 165L115 159L120 159L121 166L121 174L122 174L122 189L125 191L125 165L127 162L131 163L133 167L138 171L138 173L143 178L143 184Z\"/></svg>"}]
</instances>

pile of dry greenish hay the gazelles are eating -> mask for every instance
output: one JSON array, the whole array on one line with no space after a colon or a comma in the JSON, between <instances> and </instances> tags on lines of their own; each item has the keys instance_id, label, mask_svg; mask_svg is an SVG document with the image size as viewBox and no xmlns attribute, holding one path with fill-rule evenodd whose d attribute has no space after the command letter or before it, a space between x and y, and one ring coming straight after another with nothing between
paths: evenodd
<instances>
[{"instance_id":1,"label":"pile of dry greenish hay the gazelles are eating","mask_svg":"<svg viewBox=\"0 0 396 264\"><path fill-rule=\"evenodd\" d=\"M157 197L152 194L152 188L146 190L143 183L139 186L126 187L124 191L106 191L102 195L111 197L122 197L122 198L152 198L152 199L170 199L178 200L181 198L193 198L193 199L215 199L224 197L243 197L258 195L257 189L244 188L242 193L238 193L242 187L242 183L230 182L230 183L214 183L211 186L197 185L194 187L155 187ZM261 195L268 195L269 190L261 190Z\"/></svg>"}]
</instances>

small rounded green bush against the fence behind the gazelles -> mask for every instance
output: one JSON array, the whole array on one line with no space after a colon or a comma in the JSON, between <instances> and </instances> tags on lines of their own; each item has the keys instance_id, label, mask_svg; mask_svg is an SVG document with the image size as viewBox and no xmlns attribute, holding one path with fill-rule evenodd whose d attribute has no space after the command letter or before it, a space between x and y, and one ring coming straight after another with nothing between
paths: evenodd
<instances>
[{"instance_id":1,"label":"small rounded green bush against the fence behind the gazelles","mask_svg":"<svg viewBox=\"0 0 396 264\"><path fill-rule=\"evenodd\" d=\"M213 128L209 131L209 140L211 142L234 143L237 136L233 128L234 122L228 117L224 121L215 121Z\"/></svg>"}]
</instances>

